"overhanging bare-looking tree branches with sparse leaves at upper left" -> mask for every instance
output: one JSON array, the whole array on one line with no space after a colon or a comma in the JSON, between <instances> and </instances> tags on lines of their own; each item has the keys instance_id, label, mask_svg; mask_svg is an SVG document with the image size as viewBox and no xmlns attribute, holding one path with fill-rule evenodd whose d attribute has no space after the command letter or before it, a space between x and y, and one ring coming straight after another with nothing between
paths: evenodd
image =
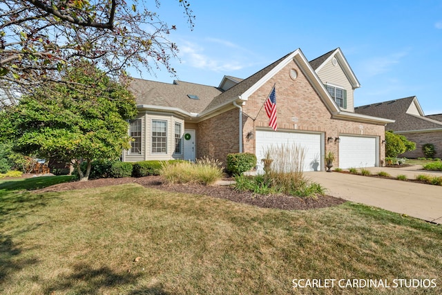
<instances>
[{"instance_id":1,"label":"overhanging bare-looking tree branches with sparse leaves at upper left","mask_svg":"<svg viewBox=\"0 0 442 295\"><path fill-rule=\"evenodd\" d=\"M177 46L154 11L160 1L2 0L0 3L0 99L59 82L60 73L88 59L108 75L127 66L151 72L165 66ZM186 0L177 0L193 27ZM9 99L10 100L10 99ZM1 107L1 105L0 105Z\"/></svg>"}]
</instances>

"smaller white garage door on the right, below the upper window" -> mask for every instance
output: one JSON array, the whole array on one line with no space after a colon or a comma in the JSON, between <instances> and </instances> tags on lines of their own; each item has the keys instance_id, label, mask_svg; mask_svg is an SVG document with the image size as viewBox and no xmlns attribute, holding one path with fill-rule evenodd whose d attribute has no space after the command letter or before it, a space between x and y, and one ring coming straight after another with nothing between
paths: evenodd
<instances>
[{"instance_id":1,"label":"smaller white garage door on the right, below the upper window","mask_svg":"<svg viewBox=\"0 0 442 295\"><path fill-rule=\"evenodd\" d=\"M376 137L339 135L339 168L378 166Z\"/></svg>"}]
</instances>

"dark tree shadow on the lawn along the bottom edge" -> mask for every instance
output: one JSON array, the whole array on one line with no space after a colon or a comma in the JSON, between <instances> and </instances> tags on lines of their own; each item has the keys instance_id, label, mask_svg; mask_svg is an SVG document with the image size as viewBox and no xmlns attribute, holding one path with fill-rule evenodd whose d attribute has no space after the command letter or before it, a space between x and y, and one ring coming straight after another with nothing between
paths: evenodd
<instances>
[{"instance_id":1,"label":"dark tree shadow on the lawn along the bottom edge","mask_svg":"<svg viewBox=\"0 0 442 295\"><path fill-rule=\"evenodd\" d=\"M73 267L73 272L60 275L44 289L44 294L58 292L72 292L73 294L102 294L104 289L122 287L124 285L136 285L137 279L142 274L130 272L117 273L109 267L93 268L86 263L79 263ZM137 294L167 294L161 287L148 287L135 289L127 293Z\"/></svg>"}]
</instances>

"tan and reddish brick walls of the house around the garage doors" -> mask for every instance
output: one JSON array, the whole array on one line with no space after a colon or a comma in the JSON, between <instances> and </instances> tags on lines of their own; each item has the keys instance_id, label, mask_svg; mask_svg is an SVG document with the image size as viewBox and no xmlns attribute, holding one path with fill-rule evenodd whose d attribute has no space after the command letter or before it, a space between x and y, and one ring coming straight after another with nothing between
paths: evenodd
<instances>
[{"instance_id":1,"label":"tan and reddish brick walls of the house around the garage doors","mask_svg":"<svg viewBox=\"0 0 442 295\"><path fill-rule=\"evenodd\" d=\"M298 77L293 80L289 77L289 70L295 69ZM256 134L257 129L267 129L269 119L263 104L276 84L276 105L278 115L278 131L314 131L324 133L327 137L339 135L372 135L379 137L379 159L385 158L385 126L383 124L367 124L346 120L332 119L324 102L309 80L303 75L294 61L282 68L267 83L262 85L247 100L242 108L243 116L243 151L256 153L255 139L247 139L250 131ZM227 113L210 118L198 124L198 155L208 155L225 162L228 153L236 153L239 149L238 140L238 108ZM325 141L326 142L326 141ZM335 156L335 166L339 166L339 144L325 144L325 153L332 151Z\"/></svg>"}]
</instances>

